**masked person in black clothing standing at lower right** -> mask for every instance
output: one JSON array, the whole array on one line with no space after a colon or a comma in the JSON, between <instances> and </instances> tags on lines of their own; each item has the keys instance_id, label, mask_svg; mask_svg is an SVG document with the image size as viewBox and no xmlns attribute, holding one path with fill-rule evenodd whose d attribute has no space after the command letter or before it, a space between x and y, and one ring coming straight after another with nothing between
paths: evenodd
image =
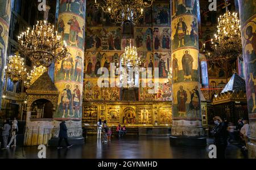
<instances>
[{"instance_id":1,"label":"masked person in black clothing standing at lower right","mask_svg":"<svg viewBox=\"0 0 256 170\"><path fill-rule=\"evenodd\" d=\"M213 117L213 121L215 126L211 133L214 136L214 145L217 148L217 159L225 159L225 150L228 145L226 125L219 116Z\"/></svg>"}]
</instances>

